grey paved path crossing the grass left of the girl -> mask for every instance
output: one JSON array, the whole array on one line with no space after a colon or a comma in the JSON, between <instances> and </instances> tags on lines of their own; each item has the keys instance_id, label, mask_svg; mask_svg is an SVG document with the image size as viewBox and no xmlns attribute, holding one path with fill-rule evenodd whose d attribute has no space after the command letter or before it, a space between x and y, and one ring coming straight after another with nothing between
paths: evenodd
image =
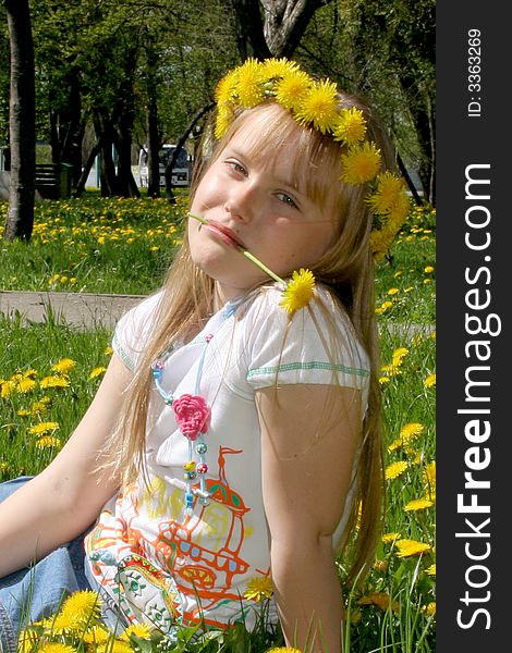
<instances>
[{"instance_id":1,"label":"grey paved path crossing the grass left of the girl","mask_svg":"<svg viewBox=\"0 0 512 653\"><path fill-rule=\"evenodd\" d=\"M144 295L94 295L92 293L0 292L0 313L20 315L26 322L53 316L78 329L112 329L119 318Z\"/></svg>"}]
</instances>

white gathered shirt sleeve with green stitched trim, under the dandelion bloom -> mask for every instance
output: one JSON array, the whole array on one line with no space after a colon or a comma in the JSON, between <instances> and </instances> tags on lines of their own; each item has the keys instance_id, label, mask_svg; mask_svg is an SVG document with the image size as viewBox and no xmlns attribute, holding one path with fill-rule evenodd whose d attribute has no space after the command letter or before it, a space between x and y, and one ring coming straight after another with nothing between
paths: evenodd
<instances>
[{"instance_id":1,"label":"white gathered shirt sleeve with green stitched trim, under the dandelion bloom","mask_svg":"<svg viewBox=\"0 0 512 653\"><path fill-rule=\"evenodd\" d=\"M254 390L276 384L320 383L364 391L368 357L354 329L329 292L293 319L279 306L281 293L265 291L247 312L247 382Z\"/></svg>"}]
</instances>

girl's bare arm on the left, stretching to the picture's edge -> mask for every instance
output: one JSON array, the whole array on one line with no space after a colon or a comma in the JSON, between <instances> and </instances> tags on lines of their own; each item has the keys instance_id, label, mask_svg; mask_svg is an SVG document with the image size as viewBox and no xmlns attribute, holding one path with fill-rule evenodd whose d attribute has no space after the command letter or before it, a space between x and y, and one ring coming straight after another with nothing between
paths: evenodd
<instances>
[{"instance_id":1,"label":"girl's bare arm on the left, stretching to the picture's edge","mask_svg":"<svg viewBox=\"0 0 512 653\"><path fill-rule=\"evenodd\" d=\"M119 486L94 471L132 372L114 354L88 410L62 451L0 503L0 577L40 559L90 526Z\"/></svg>"}]
</instances>

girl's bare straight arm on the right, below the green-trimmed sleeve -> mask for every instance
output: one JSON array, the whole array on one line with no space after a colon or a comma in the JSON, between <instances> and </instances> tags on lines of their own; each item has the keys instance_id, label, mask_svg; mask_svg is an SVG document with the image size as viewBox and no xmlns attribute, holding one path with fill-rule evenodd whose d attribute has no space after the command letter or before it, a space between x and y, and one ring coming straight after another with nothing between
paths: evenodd
<instances>
[{"instance_id":1,"label":"girl's bare straight arm on the right, below the green-trimmed sleeve","mask_svg":"<svg viewBox=\"0 0 512 653\"><path fill-rule=\"evenodd\" d=\"M287 644L340 653L343 606L332 533L361 431L359 392L284 385L256 397L271 574Z\"/></svg>"}]
</instances>

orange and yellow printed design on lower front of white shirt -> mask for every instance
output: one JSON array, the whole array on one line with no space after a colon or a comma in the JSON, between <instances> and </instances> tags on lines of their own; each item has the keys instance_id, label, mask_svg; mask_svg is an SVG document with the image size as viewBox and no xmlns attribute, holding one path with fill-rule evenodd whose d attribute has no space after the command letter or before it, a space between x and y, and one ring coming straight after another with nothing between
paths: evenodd
<instances>
[{"instance_id":1,"label":"orange and yellow printed design on lower front of white shirt","mask_svg":"<svg viewBox=\"0 0 512 653\"><path fill-rule=\"evenodd\" d=\"M224 612L229 606L232 620L243 618L240 589L233 589L233 580L249 569L241 549L246 535L244 515L251 508L225 476L225 455L241 453L219 447L218 478L205 479L211 501L205 505L196 498L192 514L175 512L183 507L174 497L182 494L180 490L153 479L149 491L158 489L151 493L153 503L147 490L138 493L138 500L130 493L131 501L117 513L115 528L106 513L106 521L101 519L89 537L93 572L110 593L118 594L119 607L130 621L149 620L163 629L176 620L204 619L222 626L208 617L220 603ZM163 505L169 508L167 519L150 520Z\"/></svg>"}]
</instances>

